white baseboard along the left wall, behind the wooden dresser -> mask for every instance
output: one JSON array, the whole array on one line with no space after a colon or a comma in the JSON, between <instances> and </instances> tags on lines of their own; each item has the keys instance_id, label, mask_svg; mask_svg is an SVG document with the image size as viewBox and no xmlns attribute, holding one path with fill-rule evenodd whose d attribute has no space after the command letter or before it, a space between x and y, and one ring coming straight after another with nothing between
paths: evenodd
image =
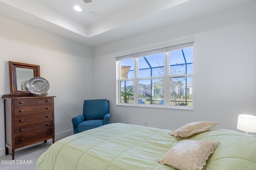
<instances>
[{"instance_id":1,"label":"white baseboard along the left wall, behind the wooden dresser","mask_svg":"<svg viewBox=\"0 0 256 170\"><path fill-rule=\"evenodd\" d=\"M68 131L64 131L64 132L60 132L60 133L55 133L54 141L58 141L59 139L62 139L64 137L67 137L67 136L70 136L70 135L73 135L73 134L74 134L73 129L68 130ZM52 139L48 139L47 140L47 142L51 142L51 141L52 141ZM35 145L39 145L39 144L42 144L42 143L44 143L44 141L38 142L38 143L34 143L32 145L16 149L15 151L26 149L28 147L33 147ZM9 153L11 153L10 150L9 150ZM5 147L4 148L0 148L0 156L2 156L2 155L5 155Z\"/></svg>"}]
</instances>

